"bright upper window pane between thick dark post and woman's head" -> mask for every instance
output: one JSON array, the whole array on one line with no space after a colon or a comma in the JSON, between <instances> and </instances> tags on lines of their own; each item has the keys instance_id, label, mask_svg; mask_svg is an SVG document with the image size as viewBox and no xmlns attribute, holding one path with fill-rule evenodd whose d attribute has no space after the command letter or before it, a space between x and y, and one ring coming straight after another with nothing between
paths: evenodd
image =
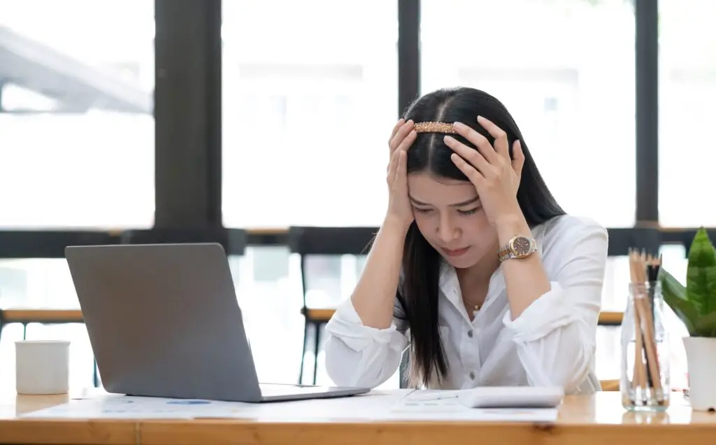
<instances>
[{"instance_id":1,"label":"bright upper window pane between thick dark post and woman's head","mask_svg":"<svg viewBox=\"0 0 716 445\"><path fill-rule=\"evenodd\" d=\"M396 1L225 0L223 36L224 224L378 225Z\"/></svg>"}]
</instances>

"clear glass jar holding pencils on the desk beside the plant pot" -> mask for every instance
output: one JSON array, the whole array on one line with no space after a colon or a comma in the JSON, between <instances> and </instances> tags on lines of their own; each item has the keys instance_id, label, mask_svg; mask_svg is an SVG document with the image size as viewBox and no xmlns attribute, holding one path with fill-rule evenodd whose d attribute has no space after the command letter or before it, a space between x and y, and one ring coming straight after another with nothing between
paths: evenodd
<instances>
[{"instance_id":1,"label":"clear glass jar holding pencils on the desk beside the plant pot","mask_svg":"<svg viewBox=\"0 0 716 445\"><path fill-rule=\"evenodd\" d=\"M629 284L621 322L621 404L634 411L669 408L669 338L660 282Z\"/></svg>"}]
</instances>

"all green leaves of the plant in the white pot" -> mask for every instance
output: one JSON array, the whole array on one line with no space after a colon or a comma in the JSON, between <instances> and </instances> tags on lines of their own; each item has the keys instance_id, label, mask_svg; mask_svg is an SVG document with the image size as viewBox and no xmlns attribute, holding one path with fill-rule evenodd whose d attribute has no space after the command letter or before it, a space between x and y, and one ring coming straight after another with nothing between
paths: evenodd
<instances>
[{"instance_id":1,"label":"all green leaves of the plant in the white pot","mask_svg":"<svg viewBox=\"0 0 716 445\"><path fill-rule=\"evenodd\" d=\"M689 250L686 286L662 268L664 302L692 337L716 337L716 249L706 229L696 232Z\"/></svg>"}]
</instances>

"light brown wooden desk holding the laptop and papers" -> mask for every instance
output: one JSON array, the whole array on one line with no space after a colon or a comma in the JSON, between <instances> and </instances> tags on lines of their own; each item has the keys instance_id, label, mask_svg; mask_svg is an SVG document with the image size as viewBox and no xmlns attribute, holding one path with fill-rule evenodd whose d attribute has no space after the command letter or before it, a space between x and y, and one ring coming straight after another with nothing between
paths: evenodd
<instances>
[{"instance_id":1,"label":"light brown wooden desk holding the laptop and papers","mask_svg":"<svg viewBox=\"0 0 716 445\"><path fill-rule=\"evenodd\" d=\"M19 413L64 403L67 396L0 398L0 444L705 444L716 437L716 413L690 410L678 393L667 413L624 411L619 393L569 396L556 424L476 422L266 422L29 420Z\"/></svg>"}]
</instances>

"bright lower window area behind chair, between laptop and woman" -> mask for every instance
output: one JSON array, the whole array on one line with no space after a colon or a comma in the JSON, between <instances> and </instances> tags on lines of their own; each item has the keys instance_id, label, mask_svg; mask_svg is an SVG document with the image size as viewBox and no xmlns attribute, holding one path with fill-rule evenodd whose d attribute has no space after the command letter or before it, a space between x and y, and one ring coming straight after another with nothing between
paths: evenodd
<instances>
[{"instance_id":1,"label":"bright lower window area behind chair, between laptop and woman","mask_svg":"<svg viewBox=\"0 0 716 445\"><path fill-rule=\"evenodd\" d=\"M364 257L352 255L309 256L306 260L307 304L320 309L334 308L349 296L364 264ZM229 257L229 264L259 381L296 383L304 343L300 256L286 247L248 247L242 257ZM304 382L313 373L313 335L309 330ZM325 332L321 338L325 340ZM322 347L317 383L334 384L326 373ZM381 388L398 386L396 372Z\"/></svg>"}]
</instances>

